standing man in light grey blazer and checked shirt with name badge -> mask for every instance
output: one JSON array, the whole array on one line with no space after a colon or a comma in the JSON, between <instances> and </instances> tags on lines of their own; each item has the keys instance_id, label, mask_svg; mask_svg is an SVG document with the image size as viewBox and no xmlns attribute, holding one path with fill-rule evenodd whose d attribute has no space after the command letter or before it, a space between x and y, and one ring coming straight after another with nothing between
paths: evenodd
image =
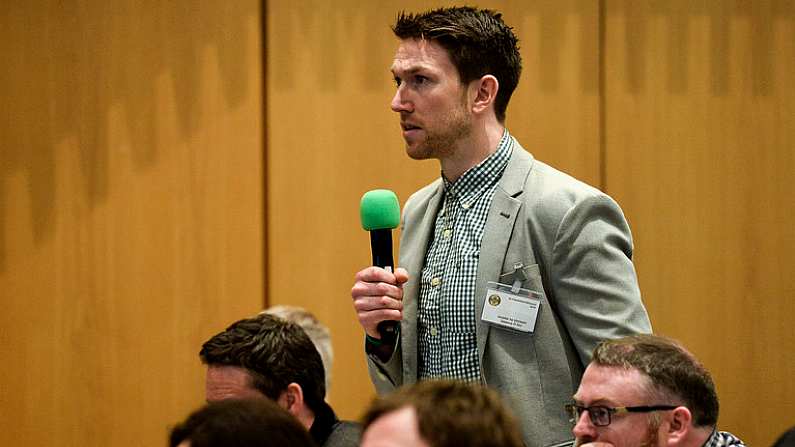
<instances>
[{"instance_id":1,"label":"standing man in light grey blazer and checked shirt with name badge","mask_svg":"<svg viewBox=\"0 0 795 447\"><path fill-rule=\"evenodd\" d=\"M505 128L521 72L501 15L401 14L392 73L406 152L442 176L406 202L400 261L351 295L380 393L434 377L505 398L527 445L570 440L561 405L596 343L650 332L618 205L536 161ZM397 336L378 325L400 321Z\"/></svg>"}]
</instances>

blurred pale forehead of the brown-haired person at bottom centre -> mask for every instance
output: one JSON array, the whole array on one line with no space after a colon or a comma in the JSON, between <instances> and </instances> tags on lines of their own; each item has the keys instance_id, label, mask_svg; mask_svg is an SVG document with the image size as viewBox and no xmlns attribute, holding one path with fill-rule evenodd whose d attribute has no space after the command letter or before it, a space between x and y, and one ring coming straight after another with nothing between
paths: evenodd
<instances>
[{"instance_id":1,"label":"blurred pale forehead of the brown-haired person at bottom centre","mask_svg":"<svg viewBox=\"0 0 795 447\"><path fill-rule=\"evenodd\" d=\"M417 414L411 407L376 419L362 434L362 447L430 447L420 437Z\"/></svg>"}]
</instances>

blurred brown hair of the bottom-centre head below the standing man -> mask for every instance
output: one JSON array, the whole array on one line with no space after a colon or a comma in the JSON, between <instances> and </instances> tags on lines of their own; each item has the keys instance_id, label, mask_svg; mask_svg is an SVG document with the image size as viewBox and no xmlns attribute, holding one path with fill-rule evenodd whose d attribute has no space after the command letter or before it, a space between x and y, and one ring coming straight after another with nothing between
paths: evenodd
<instances>
[{"instance_id":1,"label":"blurred brown hair of the bottom-centre head below the standing man","mask_svg":"<svg viewBox=\"0 0 795 447\"><path fill-rule=\"evenodd\" d=\"M497 393L479 384L428 380L373 401L364 430L401 408L414 408L420 436L432 447L523 447L516 419Z\"/></svg>"}]
</instances>

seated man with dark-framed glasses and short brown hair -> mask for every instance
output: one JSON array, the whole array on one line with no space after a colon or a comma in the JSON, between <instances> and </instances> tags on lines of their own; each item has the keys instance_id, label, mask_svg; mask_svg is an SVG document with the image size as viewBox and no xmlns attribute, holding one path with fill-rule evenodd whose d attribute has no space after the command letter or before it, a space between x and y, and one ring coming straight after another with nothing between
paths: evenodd
<instances>
[{"instance_id":1,"label":"seated man with dark-framed glasses and short brown hair","mask_svg":"<svg viewBox=\"0 0 795 447\"><path fill-rule=\"evenodd\" d=\"M744 446L717 431L718 396L703 365L654 335L604 341L566 411L579 446Z\"/></svg>"}]
</instances>

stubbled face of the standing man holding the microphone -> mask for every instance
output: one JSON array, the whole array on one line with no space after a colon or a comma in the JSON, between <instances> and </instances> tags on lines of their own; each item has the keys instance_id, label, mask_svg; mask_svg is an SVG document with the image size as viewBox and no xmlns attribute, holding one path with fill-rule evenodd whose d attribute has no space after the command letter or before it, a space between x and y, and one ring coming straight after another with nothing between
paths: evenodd
<instances>
[{"instance_id":1,"label":"stubbled face of the standing man holding the microphone","mask_svg":"<svg viewBox=\"0 0 795 447\"><path fill-rule=\"evenodd\" d=\"M392 63L397 92L392 110L411 158L444 158L472 131L467 88L447 50L434 41L407 39Z\"/></svg>"}]
</instances>

